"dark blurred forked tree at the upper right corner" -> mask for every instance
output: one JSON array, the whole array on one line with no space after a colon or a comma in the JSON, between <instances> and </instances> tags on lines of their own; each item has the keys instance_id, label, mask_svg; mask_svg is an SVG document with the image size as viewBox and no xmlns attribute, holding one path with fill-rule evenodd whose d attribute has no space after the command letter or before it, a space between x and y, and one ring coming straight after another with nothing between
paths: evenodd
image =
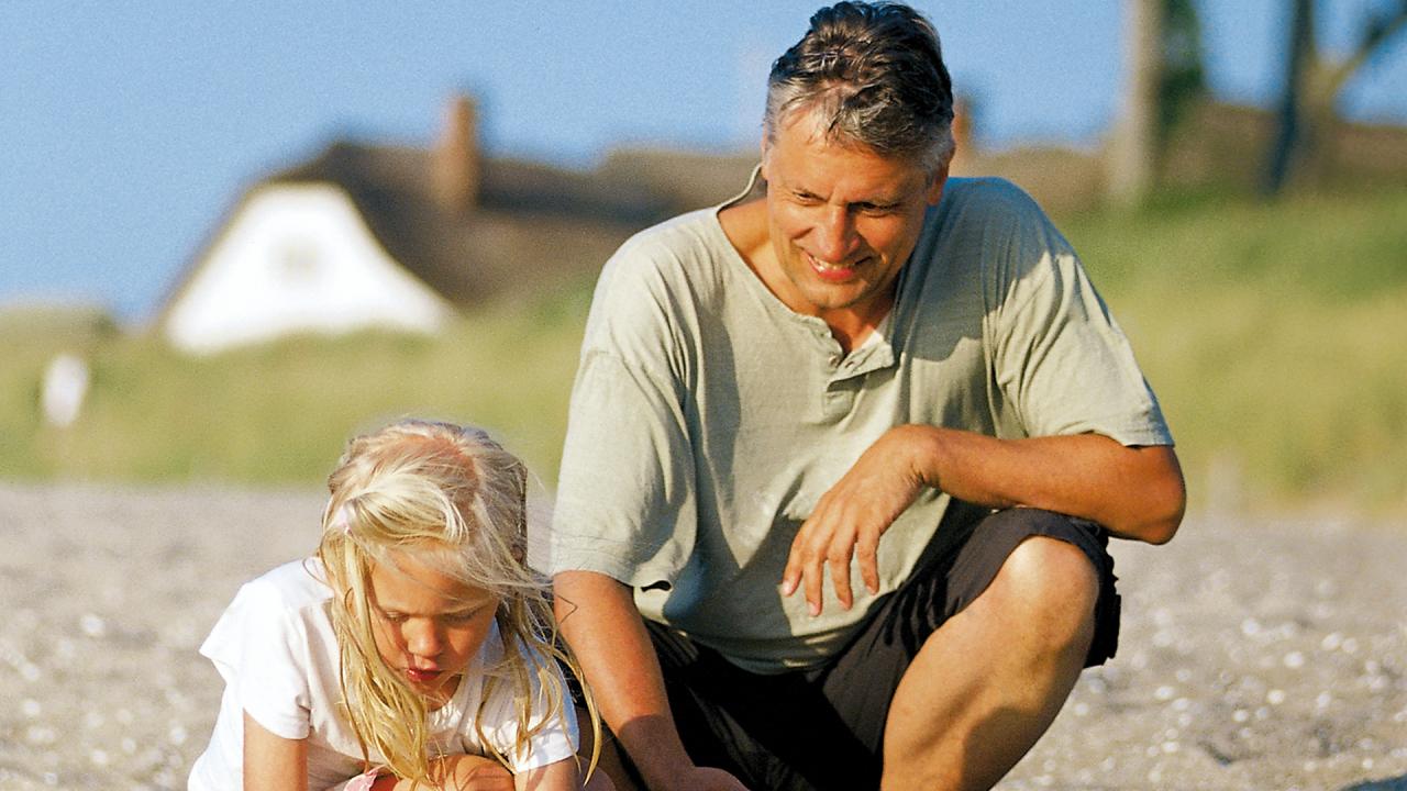
<instances>
[{"instance_id":1,"label":"dark blurred forked tree at the upper right corner","mask_svg":"<svg viewBox=\"0 0 1407 791\"><path fill-rule=\"evenodd\" d=\"M1339 122L1335 103L1344 84L1403 30L1407 30L1407 0L1380 3L1368 13L1354 49L1334 59L1316 41L1314 0L1293 0L1279 128L1266 166L1266 194L1283 190L1296 173L1311 180L1324 176L1327 141L1334 138Z\"/></svg>"}]
</instances>

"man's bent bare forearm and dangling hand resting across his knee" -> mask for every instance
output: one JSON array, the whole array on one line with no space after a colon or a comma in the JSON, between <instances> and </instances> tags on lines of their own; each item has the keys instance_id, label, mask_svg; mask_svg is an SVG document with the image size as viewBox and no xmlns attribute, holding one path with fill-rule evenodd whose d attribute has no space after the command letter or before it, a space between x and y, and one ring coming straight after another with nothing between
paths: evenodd
<instances>
[{"instance_id":1,"label":"man's bent bare forearm and dangling hand resting across his knee","mask_svg":"<svg viewBox=\"0 0 1407 791\"><path fill-rule=\"evenodd\" d=\"M1171 446L1128 448L1107 436L996 439L927 425L889 429L833 486L792 542L782 594L805 590L820 612L829 567L843 607L853 602L850 560L879 588L879 536L924 487L958 500L1024 505L1090 519L1120 538L1165 543L1182 522L1186 488Z\"/></svg>"}]
</instances>

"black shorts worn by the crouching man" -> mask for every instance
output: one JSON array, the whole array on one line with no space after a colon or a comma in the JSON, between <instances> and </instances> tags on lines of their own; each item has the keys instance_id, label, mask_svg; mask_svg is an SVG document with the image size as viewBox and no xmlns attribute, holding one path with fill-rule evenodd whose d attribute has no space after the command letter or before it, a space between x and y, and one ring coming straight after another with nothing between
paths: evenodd
<instances>
[{"instance_id":1,"label":"black shorts worn by the crouching man","mask_svg":"<svg viewBox=\"0 0 1407 791\"><path fill-rule=\"evenodd\" d=\"M699 766L750 788L878 788L889 701L923 642L975 601L1006 557L1031 536L1069 542L1099 573L1086 667L1119 645L1119 594L1104 531L1034 508L991 512L954 501L941 531L967 540L920 557L913 576L877 607L864 629L825 666L760 676L667 626L646 622L664 671L680 736ZM951 535L951 533L948 533Z\"/></svg>"}]
</instances>

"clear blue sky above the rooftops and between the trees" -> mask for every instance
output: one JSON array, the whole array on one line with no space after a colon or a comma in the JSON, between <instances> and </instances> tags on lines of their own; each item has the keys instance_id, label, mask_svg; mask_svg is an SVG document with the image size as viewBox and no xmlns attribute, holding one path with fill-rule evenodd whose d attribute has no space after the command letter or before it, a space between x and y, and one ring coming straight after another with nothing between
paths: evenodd
<instances>
[{"instance_id":1,"label":"clear blue sky above the rooftops and between the trees","mask_svg":"<svg viewBox=\"0 0 1407 791\"><path fill-rule=\"evenodd\" d=\"M1324 3L1342 48L1363 8ZM480 96L492 153L590 166L618 145L754 145L772 58L817 1L0 0L0 307L151 315L250 182L329 139L424 144ZM1093 145L1117 108L1117 0L920 1L979 142ZM1202 0L1213 90L1266 104L1287 1ZM1407 122L1407 35L1344 110Z\"/></svg>"}]
</instances>

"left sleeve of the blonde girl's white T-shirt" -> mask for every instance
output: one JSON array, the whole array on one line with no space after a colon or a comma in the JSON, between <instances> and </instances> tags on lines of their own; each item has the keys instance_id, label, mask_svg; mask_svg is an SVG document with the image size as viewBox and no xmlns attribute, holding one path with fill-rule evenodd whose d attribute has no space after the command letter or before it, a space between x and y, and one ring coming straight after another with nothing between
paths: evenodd
<instances>
[{"instance_id":1,"label":"left sleeve of the blonde girl's white T-shirt","mask_svg":"<svg viewBox=\"0 0 1407 791\"><path fill-rule=\"evenodd\" d=\"M307 645L307 631L277 588L253 580L235 594L200 653L259 725L284 739L304 739L311 723Z\"/></svg>"}]
</instances>

